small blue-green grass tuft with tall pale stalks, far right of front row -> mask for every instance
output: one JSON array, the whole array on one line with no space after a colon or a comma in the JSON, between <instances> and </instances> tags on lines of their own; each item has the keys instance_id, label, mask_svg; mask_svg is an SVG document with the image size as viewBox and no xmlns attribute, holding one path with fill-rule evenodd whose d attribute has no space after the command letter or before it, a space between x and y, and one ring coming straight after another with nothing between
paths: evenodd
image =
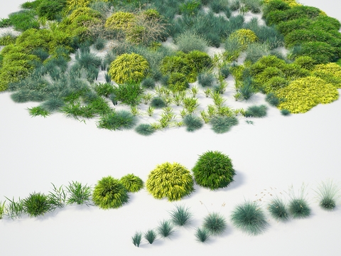
<instances>
[{"instance_id":1,"label":"small blue-green grass tuft with tall pale stalks, far right of front row","mask_svg":"<svg viewBox=\"0 0 341 256\"><path fill-rule=\"evenodd\" d=\"M340 197L340 187L332 180L322 181L315 190L318 203L324 210L334 210L336 199Z\"/></svg>"}]
</instances>

